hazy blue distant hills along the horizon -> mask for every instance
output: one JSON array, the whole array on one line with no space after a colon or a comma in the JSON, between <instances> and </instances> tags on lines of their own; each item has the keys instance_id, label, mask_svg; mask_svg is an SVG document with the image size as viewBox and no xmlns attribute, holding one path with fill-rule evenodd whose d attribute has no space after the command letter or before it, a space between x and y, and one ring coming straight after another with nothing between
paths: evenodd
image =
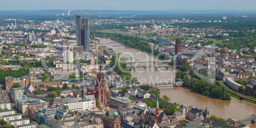
<instances>
[{"instance_id":1,"label":"hazy blue distant hills along the horizon","mask_svg":"<svg viewBox=\"0 0 256 128\"><path fill-rule=\"evenodd\" d=\"M0 15L64 15L69 10L0 10ZM71 10L70 15L74 15L76 10ZM136 11L136 10L78 10L78 15L82 11L92 15L170 15L170 14L248 14L256 13L256 10L169 10L169 11Z\"/></svg>"}]
</instances>

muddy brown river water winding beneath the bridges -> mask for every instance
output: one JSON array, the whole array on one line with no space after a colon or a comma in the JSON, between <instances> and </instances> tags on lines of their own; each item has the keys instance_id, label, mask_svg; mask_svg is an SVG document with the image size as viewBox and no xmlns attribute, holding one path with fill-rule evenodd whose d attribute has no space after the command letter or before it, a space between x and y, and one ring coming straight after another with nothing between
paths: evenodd
<instances>
[{"instance_id":1,"label":"muddy brown river water winding beneath the bridges","mask_svg":"<svg viewBox=\"0 0 256 128\"><path fill-rule=\"evenodd\" d=\"M101 39L100 44L106 45L113 42L110 39ZM110 44L111 45L111 44ZM124 53L121 57L132 57L133 62L138 60L156 60L151 55L141 52L134 48L126 48L125 46L113 46L118 53ZM136 77L141 83L164 83L173 82L175 76L175 69L134 69L131 72L132 77ZM160 96L166 95L170 97L171 103L187 104L188 106L195 106L197 108L205 109L206 107L210 111L210 115L216 115L222 118L233 118L241 120L250 115L256 115L256 105L245 103L235 98L231 98L231 101L222 101L220 99L211 99L210 97L202 96L191 92L189 89L183 87L168 87L159 88ZM255 127L255 124L250 122L243 122L244 124Z\"/></svg>"}]
</instances>

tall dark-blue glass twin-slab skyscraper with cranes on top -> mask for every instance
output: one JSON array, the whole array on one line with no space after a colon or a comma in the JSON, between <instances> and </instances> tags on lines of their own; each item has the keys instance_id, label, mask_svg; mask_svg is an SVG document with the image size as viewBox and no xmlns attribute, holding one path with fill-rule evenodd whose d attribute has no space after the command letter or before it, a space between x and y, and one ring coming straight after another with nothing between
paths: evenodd
<instances>
[{"instance_id":1,"label":"tall dark-blue glass twin-slab skyscraper with cranes on top","mask_svg":"<svg viewBox=\"0 0 256 128\"><path fill-rule=\"evenodd\" d=\"M83 50L90 50L89 20L88 18L76 15L76 38L77 45L83 46Z\"/></svg>"}]
</instances>

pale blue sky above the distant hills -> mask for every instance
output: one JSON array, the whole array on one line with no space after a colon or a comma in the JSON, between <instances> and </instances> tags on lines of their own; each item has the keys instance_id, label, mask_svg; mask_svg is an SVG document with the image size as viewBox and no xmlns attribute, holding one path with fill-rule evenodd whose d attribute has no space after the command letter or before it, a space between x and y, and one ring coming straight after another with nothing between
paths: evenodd
<instances>
[{"instance_id":1,"label":"pale blue sky above the distant hills","mask_svg":"<svg viewBox=\"0 0 256 128\"><path fill-rule=\"evenodd\" d=\"M1 0L0 10L256 10L256 0Z\"/></svg>"}]
</instances>

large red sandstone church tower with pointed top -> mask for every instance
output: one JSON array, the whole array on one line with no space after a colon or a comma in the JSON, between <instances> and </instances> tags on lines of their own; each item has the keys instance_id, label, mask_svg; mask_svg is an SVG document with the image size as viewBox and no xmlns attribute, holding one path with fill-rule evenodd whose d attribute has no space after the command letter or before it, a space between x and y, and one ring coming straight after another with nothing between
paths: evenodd
<instances>
[{"instance_id":1,"label":"large red sandstone church tower with pointed top","mask_svg":"<svg viewBox=\"0 0 256 128\"><path fill-rule=\"evenodd\" d=\"M99 73L97 74L97 85L96 90L99 89L99 91L96 92L95 97L99 100L99 106L105 106L108 102L106 99L106 89L104 88L104 73L101 71L101 66L99 66Z\"/></svg>"}]
</instances>

